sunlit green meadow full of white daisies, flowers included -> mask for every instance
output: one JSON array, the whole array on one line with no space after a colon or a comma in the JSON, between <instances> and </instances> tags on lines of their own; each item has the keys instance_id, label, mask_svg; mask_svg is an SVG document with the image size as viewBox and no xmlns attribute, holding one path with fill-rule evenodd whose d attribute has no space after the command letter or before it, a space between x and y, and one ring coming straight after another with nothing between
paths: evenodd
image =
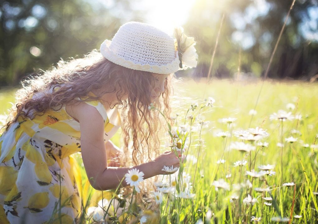
<instances>
[{"instance_id":1,"label":"sunlit green meadow full of white daisies, flowers included","mask_svg":"<svg viewBox=\"0 0 318 224\"><path fill-rule=\"evenodd\" d=\"M76 154L86 216L80 222L318 223L316 83L183 80L174 90L175 124L166 126L162 152L184 149L187 162L159 176L141 205L138 185L93 190ZM0 114L13 92L0 90ZM119 145L119 138L112 140Z\"/></svg>"}]
</instances>

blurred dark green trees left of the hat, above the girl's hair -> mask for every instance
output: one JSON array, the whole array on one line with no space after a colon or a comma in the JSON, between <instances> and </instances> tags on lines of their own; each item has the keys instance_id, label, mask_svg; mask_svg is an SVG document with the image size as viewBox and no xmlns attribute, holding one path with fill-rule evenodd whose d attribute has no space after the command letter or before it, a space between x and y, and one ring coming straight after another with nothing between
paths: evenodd
<instances>
[{"instance_id":1,"label":"blurred dark green trees left of the hat, above the girl's hair","mask_svg":"<svg viewBox=\"0 0 318 224\"><path fill-rule=\"evenodd\" d=\"M0 86L99 49L121 24L140 20L141 12L130 9L128 0L0 1Z\"/></svg>"}]
</instances>

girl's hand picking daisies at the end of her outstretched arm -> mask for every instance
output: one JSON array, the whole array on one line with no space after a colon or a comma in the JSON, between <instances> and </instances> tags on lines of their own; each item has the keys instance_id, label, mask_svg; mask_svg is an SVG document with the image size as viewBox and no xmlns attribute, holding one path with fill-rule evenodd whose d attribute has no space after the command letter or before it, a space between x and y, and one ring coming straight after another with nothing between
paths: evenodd
<instances>
[{"instance_id":1,"label":"girl's hand picking daisies at the end of her outstretched arm","mask_svg":"<svg viewBox=\"0 0 318 224\"><path fill-rule=\"evenodd\" d=\"M167 173L166 171L162 171L163 166L169 166L171 167L173 165L173 168L175 167L179 167L180 166L180 158L182 163L186 162L186 157L184 154L178 154L178 156L176 156L175 152L164 152L161 155L159 155L155 160L155 164L156 164L156 169L158 171L158 174L170 174ZM175 171L176 172L176 171ZM174 173L175 173L174 172Z\"/></svg>"}]
</instances>

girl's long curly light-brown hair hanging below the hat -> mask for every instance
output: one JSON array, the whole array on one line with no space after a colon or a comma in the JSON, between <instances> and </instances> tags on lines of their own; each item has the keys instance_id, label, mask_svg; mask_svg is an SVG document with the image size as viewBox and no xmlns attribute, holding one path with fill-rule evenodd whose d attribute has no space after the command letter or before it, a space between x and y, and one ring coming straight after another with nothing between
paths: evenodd
<instances>
[{"instance_id":1,"label":"girl's long curly light-brown hair hanging below the hat","mask_svg":"<svg viewBox=\"0 0 318 224\"><path fill-rule=\"evenodd\" d=\"M172 121L169 95L173 76L168 76L164 92L153 102L158 110L164 107L163 112L169 121ZM61 60L51 69L21 83L22 88L16 94L16 107L10 112L6 130L20 116L33 119L48 110L58 111L63 105L72 104L77 97L87 97L85 101L102 100L104 94L116 93L118 102L114 106L121 108L124 164L137 165L159 154L162 122L159 111L148 108L155 84L151 72L114 64L95 50L84 58ZM55 87L59 89L47 91ZM97 89L101 90L100 95L88 96L89 92ZM41 92L40 96L32 98L37 92ZM128 99L122 100L121 97L127 94Z\"/></svg>"}]
</instances>

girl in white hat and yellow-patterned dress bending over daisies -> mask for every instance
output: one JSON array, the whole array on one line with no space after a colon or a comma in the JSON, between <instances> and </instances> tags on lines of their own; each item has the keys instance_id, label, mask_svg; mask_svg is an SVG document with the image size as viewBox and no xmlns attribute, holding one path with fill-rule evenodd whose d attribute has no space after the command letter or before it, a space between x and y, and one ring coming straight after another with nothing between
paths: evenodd
<instances>
[{"instance_id":1,"label":"girl in white hat and yellow-patterned dress bending over daisies","mask_svg":"<svg viewBox=\"0 0 318 224\"><path fill-rule=\"evenodd\" d=\"M116 188L131 168L147 179L165 174L163 166L178 167L174 152L158 156L159 114L148 106L161 110L163 103L169 118L170 79L179 64L172 37L149 24L129 22L101 44L100 53L60 62L25 80L0 137L0 223L59 222L59 217L76 222L81 212L76 152L98 190ZM120 126L122 153L109 140ZM134 166L119 167L129 166L130 157Z\"/></svg>"}]
</instances>

